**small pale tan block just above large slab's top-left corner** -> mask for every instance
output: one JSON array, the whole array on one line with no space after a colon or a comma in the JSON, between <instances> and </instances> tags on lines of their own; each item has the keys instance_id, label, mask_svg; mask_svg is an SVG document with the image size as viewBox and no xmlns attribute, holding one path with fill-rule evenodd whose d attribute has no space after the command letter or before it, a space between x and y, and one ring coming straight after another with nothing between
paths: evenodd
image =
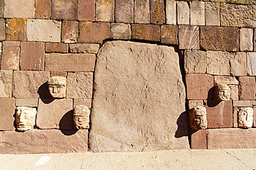
<instances>
[{"instance_id":1,"label":"small pale tan block just above large slab's top-left corner","mask_svg":"<svg viewBox=\"0 0 256 170\"><path fill-rule=\"evenodd\" d=\"M111 23L111 38L131 39L131 25L126 23Z\"/></svg>"}]
</instances>

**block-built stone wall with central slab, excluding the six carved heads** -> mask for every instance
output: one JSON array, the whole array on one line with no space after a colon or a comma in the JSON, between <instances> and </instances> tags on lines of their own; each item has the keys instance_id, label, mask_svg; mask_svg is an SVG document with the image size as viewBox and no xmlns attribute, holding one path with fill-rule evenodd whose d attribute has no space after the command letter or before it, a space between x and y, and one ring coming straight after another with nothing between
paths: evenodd
<instances>
[{"instance_id":1,"label":"block-built stone wall with central slab, excluding the six carved heads","mask_svg":"<svg viewBox=\"0 0 256 170\"><path fill-rule=\"evenodd\" d=\"M255 148L255 4L1 0L0 153ZM50 98L51 76L67 78L65 98ZM219 84L230 100L214 99ZM90 129L74 128L76 105L92 108ZM207 129L188 128L195 106ZM17 131L16 107L37 109L32 130Z\"/></svg>"}]
</instances>

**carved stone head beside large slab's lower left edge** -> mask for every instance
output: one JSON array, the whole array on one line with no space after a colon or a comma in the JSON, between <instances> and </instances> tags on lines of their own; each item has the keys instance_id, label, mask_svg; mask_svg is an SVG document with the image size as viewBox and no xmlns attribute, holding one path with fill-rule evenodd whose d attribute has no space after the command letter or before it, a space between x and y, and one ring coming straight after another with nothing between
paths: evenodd
<instances>
[{"instance_id":1,"label":"carved stone head beside large slab's lower left edge","mask_svg":"<svg viewBox=\"0 0 256 170\"><path fill-rule=\"evenodd\" d=\"M74 109L73 120L76 129L89 129L90 110L85 105L77 105Z\"/></svg>"}]
</instances>

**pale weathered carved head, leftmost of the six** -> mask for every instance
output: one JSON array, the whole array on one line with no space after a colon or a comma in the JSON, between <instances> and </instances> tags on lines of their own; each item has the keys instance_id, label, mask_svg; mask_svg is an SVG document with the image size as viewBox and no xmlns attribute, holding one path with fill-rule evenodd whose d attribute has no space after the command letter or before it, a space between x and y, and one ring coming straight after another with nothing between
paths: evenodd
<instances>
[{"instance_id":1,"label":"pale weathered carved head, leftmost of the six","mask_svg":"<svg viewBox=\"0 0 256 170\"><path fill-rule=\"evenodd\" d=\"M35 126L37 109L34 107L17 107L15 121L19 131L27 131Z\"/></svg>"}]
</instances>

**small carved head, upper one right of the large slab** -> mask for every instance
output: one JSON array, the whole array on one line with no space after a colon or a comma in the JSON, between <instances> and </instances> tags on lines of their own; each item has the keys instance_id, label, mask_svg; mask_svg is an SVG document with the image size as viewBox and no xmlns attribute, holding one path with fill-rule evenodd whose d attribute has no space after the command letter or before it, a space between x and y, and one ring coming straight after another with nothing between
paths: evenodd
<instances>
[{"instance_id":1,"label":"small carved head, upper one right of the large slab","mask_svg":"<svg viewBox=\"0 0 256 170\"><path fill-rule=\"evenodd\" d=\"M228 85L214 85L214 92L215 100L230 100L230 87Z\"/></svg>"}]
</instances>

